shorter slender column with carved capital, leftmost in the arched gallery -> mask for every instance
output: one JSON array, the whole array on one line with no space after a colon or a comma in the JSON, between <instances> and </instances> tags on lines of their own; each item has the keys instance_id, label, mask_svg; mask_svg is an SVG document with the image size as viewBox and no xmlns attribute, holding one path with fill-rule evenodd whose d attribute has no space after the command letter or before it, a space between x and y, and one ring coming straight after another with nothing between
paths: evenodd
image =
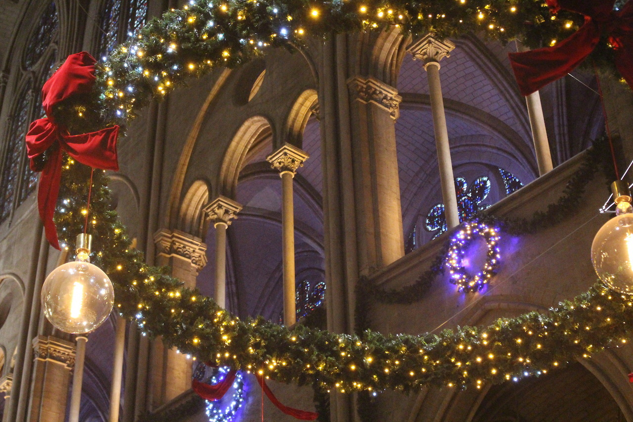
<instances>
[{"instance_id":1,"label":"shorter slender column with carved capital, leftmost in the arched gallery","mask_svg":"<svg viewBox=\"0 0 633 422\"><path fill-rule=\"evenodd\" d=\"M227 307L227 228L237 218L242 205L226 196L219 196L204 207L206 217L215 227L215 289L213 299L223 308Z\"/></svg>"}]
</instances>

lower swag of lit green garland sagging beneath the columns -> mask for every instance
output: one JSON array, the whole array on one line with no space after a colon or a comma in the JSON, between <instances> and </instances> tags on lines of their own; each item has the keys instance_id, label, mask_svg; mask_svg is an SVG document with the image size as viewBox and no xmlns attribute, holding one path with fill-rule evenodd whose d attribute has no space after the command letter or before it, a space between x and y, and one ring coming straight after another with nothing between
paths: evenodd
<instances>
[{"instance_id":1,"label":"lower swag of lit green garland sagging beneath the columns","mask_svg":"<svg viewBox=\"0 0 633 422\"><path fill-rule=\"evenodd\" d=\"M89 169L67 159L58 217L69 248L80 231ZM74 177L70 177L73 175ZM633 326L633 302L595 285L549 314L531 312L499 319L487 328L463 327L439 335L335 334L298 325L290 330L261 318L239 319L196 289L183 288L168 269L144 264L130 247L124 227L110 209L103 172L92 191L94 262L116 292L116 309L143 333L162 336L203 361L257 371L278 381L313 383L322 390L414 390L425 385L481 387L547 373L579 357L626 342ZM98 242L98 244L97 244Z\"/></svg>"}]
</instances>

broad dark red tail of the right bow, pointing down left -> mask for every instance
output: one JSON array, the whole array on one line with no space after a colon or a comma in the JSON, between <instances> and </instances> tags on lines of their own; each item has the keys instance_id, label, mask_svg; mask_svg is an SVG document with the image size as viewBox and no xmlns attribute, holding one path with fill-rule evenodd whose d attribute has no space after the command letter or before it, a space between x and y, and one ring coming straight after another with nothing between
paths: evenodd
<instances>
[{"instance_id":1,"label":"broad dark red tail of the right bow, pointing down left","mask_svg":"<svg viewBox=\"0 0 633 422\"><path fill-rule=\"evenodd\" d=\"M590 20L553 47L508 53L521 94L528 96L567 75L589 56L599 39L600 28Z\"/></svg>"}]
</instances>

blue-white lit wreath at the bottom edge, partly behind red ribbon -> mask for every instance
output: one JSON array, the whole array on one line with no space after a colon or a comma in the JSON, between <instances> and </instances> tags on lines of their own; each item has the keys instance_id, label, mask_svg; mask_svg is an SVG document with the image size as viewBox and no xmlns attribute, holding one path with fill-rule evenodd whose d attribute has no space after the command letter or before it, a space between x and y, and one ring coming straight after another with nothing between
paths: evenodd
<instances>
[{"instance_id":1,"label":"blue-white lit wreath at the bottom edge, partly behind red ribbon","mask_svg":"<svg viewBox=\"0 0 633 422\"><path fill-rule=\"evenodd\" d=\"M209 371L211 374L207 375ZM230 368L227 366L210 368L203 362L200 362L196 371L194 371L193 378L198 381L214 385L222 382L229 371ZM230 422L235 417L239 408L242 407L244 399L246 399L246 395L244 394L244 379L242 377L242 373L239 371L235 374L235 381L233 382L232 388L233 394L230 399L227 397L227 394L223 397L223 399L206 401L206 416L209 417L209 422Z\"/></svg>"}]
</instances>

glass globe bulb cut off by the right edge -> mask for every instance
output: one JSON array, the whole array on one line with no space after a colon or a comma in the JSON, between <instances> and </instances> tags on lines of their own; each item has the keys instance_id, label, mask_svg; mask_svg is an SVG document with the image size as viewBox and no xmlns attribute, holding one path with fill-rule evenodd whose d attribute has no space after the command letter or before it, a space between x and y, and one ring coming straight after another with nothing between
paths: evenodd
<instances>
[{"instance_id":1,"label":"glass globe bulb cut off by the right edge","mask_svg":"<svg viewBox=\"0 0 633 422\"><path fill-rule=\"evenodd\" d=\"M616 215L596 233L591 262L606 285L633 294L633 207L630 196L615 197Z\"/></svg>"}]
</instances>

